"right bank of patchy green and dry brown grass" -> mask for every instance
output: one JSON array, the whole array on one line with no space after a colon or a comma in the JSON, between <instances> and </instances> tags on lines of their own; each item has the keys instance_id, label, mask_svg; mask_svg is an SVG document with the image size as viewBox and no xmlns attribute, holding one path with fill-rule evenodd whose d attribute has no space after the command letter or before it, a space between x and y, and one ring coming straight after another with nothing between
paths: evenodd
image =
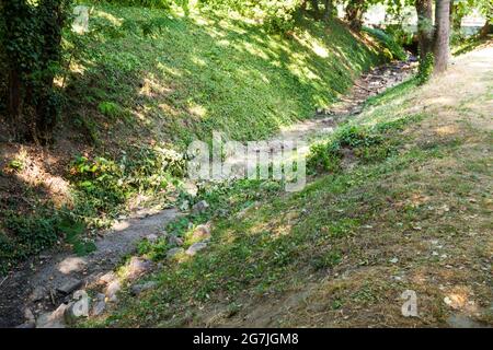
<instances>
[{"instance_id":1,"label":"right bank of patchy green and dry brown grass","mask_svg":"<svg viewBox=\"0 0 493 350\"><path fill-rule=\"evenodd\" d=\"M157 290L124 294L106 325L436 326L454 313L493 323L492 72L468 59L448 78L374 98L353 121L386 126L387 158L354 150L354 167L293 196L238 185L208 198L213 211L231 210L215 220L210 247L167 262L149 277ZM420 318L401 315L406 289Z\"/></svg>"}]
</instances>

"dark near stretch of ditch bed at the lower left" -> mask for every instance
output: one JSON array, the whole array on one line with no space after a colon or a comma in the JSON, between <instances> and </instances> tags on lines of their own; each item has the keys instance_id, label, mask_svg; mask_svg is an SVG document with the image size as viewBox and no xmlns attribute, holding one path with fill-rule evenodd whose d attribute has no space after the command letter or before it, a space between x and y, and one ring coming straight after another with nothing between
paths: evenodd
<instances>
[{"instance_id":1,"label":"dark near stretch of ditch bed at the lower left","mask_svg":"<svg viewBox=\"0 0 493 350\"><path fill-rule=\"evenodd\" d=\"M163 226L179 214L176 209L168 209L142 212L119 221L95 242L96 250L85 257L65 252L41 255L24 262L0 287L0 327L23 324L25 308L37 318L66 301L76 289L98 282L113 271L122 257L135 250L138 241L162 234Z\"/></svg>"}]
</instances>

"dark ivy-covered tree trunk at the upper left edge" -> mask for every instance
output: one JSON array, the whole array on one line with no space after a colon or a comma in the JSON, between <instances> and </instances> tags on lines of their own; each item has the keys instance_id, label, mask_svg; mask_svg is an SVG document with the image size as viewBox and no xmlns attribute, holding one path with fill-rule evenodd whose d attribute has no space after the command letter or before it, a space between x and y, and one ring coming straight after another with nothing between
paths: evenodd
<instances>
[{"instance_id":1,"label":"dark ivy-covered tree trunk at the upper left edge","mask_svg":"<svg viewBox=\"0 0 493 350\"><path fill-rule=\"evenodd\" d=\"M53 82L60 71L61 30L70 0L2 1L0 57L8 67L11 125L22 137L46 143L62 100ZM34 127L34 128L33 128Z\"/></svg>"}]
</instances>

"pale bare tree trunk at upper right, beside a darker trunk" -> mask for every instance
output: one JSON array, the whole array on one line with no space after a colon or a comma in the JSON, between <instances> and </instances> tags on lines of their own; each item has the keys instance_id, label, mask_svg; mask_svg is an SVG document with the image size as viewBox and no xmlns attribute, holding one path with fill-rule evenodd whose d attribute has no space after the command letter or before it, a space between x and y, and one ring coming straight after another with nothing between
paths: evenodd
<instances>
[{"instance_id":1,"label":"pale bare tree trunk at upper right, beside a darker trunk","mask_svg":"<svg viewBox=\"0 0 493 350\"><path fill-rule=\"evenodd\" d=\"M442 73L447 69L450 56L450 0L436 0L435 26L433 47L433 55L435 56L434 73Z\"/></svg>"}]
</instances>

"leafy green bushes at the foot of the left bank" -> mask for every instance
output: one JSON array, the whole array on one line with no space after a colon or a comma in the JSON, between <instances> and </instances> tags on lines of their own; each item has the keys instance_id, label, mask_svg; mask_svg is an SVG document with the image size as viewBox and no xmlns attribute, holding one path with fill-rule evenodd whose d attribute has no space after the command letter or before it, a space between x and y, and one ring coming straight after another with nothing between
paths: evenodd
<instances>
[{"instance_id":1,"label":"leafy green bushes at the foot of the left bank","mask_svg":"<svg viewBox=\"0 0 493 350\"><path fill-rule=\"evenodd\" d=\"M76 188L74 212L90 225L104 225L98 218L115 218L137 194L165 192L184 173L181 155L161 148L130 149L118 162L78 156L70 167Z\"/></svg>"}]
</instances>

